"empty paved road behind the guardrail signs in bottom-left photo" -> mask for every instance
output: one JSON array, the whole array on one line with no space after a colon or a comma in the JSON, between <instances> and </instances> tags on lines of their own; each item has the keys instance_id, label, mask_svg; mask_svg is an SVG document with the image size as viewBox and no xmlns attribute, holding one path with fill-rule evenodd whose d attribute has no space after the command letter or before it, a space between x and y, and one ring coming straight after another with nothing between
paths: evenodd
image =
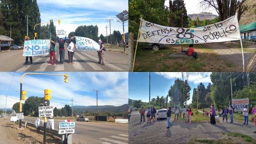
<instances>
[{"instance_id":1,"label":"empty paved road behind the guardrail signs in bottom-left photo","mask_svg":"<svg viewBox=\"0 0 256 144\"><path fill-rule=\"evenodd\" d=\"M24 117L23 121L34 123L36 119ZM58 130L59 122L63 121L54 120L54 130ZM73 142L76 144L128 144L128 124L76 121Z\"/></svg>"}]
</instances>

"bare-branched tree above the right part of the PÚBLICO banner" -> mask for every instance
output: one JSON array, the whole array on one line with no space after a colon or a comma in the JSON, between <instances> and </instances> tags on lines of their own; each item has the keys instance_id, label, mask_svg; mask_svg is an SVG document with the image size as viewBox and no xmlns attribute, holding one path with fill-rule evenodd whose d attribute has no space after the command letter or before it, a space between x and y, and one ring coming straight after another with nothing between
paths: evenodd
<instances>
[{"instance_id":1,"label":"bare-branched tree above the right part of the P\u00daBLICO banner","mask_svg":"<svg viewBox=\"0 0 256 144\"><path fill-rule=\"evenodd\" d=\"M210 7L214 8L219 15L220 21L226 20L229 17L238 13L238 21L241 15L247 10L244 5L246 0L201 0L201 7L208 10Z\"/></svg>"}]
</instances>

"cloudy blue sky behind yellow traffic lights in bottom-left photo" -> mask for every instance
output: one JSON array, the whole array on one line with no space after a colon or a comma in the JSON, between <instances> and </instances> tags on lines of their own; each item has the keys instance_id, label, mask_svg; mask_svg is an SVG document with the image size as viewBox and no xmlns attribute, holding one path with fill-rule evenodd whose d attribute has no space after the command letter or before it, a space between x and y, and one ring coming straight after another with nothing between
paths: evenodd
<instances>
[{"instance_id":1,"label":"cloudy blue sky behind yellow traffic lights in bottom-left photo","mask_svg":"<svg viewBox=\"0 0 256 144\"><path fill-rule=\"evenodd\" d=\"M46 72L65 74L65 72ZM0 72L0 108L7 108L20 99L20 78L24 72ZM71 106L73 97L74 106L96 105L96 92L98 92L98 105L128 104L128 72L67 72L68 83L64 83L64 76L51 75L25 75L23 90L26 98L29 96L44 97L44 89L51 89L52 99L50 105L61 108L65 104ZM23 101L24 102L24 101Z\"/></svg>"}]
</instances>

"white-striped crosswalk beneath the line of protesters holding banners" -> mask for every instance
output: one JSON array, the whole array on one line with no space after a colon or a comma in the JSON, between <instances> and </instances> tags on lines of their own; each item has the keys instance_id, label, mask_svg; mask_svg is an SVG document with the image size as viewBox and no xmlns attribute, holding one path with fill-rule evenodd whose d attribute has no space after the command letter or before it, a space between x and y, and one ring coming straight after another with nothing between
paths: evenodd
<instances>
[{"instance_id":1,"label":"white-striped crosswalk beneath the line of protesters holding banners","mask_svg":"<svg viewBox=\"0 0 256 144\"><path fill-rule=\"evenodd\" d=\"M61 64L59 62L60 56L58 52L56 52L56 66L53 66L53 60L52 65L47 65L49 63L49 55L45 55L44 58L42 57L33 57L33 66L30 66L30 61L28 62L28 66L22 66L18 68L17 72L45 72L45 71L127 71L128 70L128 64L127 69L123 67L122 65L125 65L123 63L115 62L109 62L108 59L106 59L106 63L104 66L98 63L99 58L97 55L91 55L92 53L87 52L75 52L73 57L73 64L68 63L68 56L65 55L64 64Z\"/></svg>"}]
</instances>

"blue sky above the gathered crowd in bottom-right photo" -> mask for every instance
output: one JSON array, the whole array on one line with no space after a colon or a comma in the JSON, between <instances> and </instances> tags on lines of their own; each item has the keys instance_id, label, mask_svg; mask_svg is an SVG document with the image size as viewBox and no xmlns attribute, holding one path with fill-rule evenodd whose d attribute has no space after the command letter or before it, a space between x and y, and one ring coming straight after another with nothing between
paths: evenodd
<instances>
[{"instance_id":1,"label":"blue sky above the gathered crowd in bottom-right photo","mask_svg":"<svg viewBox=\"0 0 256 144\"><path fill-rule=\"evenodd\" d=\"M191 87L190 99L188 104L192 101L193 89L196 88L200 82L206 87L210 80L210 72L189 72L189 85ZM182 79L181 72L151 72L150 84L150 99L166 97L170 86L174 84L175 79ZM186 72L184 72L186 78ZM129 98L133 100L142 100L148 102L149 99L149 72L129 72Z\"/></svg>"}]
</instances>

